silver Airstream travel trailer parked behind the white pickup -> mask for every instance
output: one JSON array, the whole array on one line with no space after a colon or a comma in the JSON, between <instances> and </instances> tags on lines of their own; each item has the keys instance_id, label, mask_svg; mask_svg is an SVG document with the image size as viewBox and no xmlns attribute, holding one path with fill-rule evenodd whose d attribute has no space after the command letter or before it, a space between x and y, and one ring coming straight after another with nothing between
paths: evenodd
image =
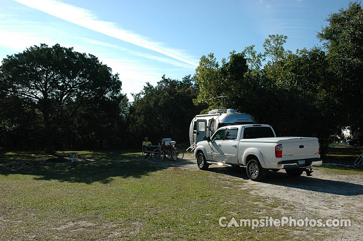
<instances>
[{"instance_id":1,"label":"silver Airstream travel trailer parked behind the white pickup","mask_svg":"<svg viewBox=\"0 0 363 241\"><path fill-rule=\"evenodd\" d=\"M235 109L213 109L208 114L198 114L189 128L191 147L203 141L203 137L211 137L220 127L255 123L252 115L238 113Z\"/></svg>"}]
</instances>

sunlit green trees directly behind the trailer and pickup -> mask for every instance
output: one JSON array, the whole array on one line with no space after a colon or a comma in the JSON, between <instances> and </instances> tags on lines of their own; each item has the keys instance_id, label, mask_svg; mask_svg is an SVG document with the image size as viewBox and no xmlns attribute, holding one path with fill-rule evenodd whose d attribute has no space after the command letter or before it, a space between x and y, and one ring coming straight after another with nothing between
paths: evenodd
<instances>
[{"instance_id":1,"label":"sunlit green trees directly behind the trailer and pickup","mask_svg":"<svg viewBox=\"0 0 363 241\"><path fill-rule=\"evenodd\" d=\"M227 95L226 108L252 114L257 122L272 125L279 136L319 137L324 142L338 132L342 119L336 112L342 106L327 85L332 78L329 60L320 48L286 51L286 39L269 35L264 53L248 46L242 53L231 52L222 67L213 54L203 56L195 75L200 86L196 102L221 107L212 97ZM271 60L262 65L265 56ZM215 82L217 87L211 84Z\"/></svg>"}]
</instances>

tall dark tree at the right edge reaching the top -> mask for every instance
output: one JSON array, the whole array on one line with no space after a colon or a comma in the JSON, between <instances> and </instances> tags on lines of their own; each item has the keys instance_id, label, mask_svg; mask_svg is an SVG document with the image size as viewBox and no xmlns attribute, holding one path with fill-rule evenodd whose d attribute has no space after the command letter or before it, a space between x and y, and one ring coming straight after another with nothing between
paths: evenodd
<instances>
[{"instance_id":1,"label":"tall dark tree at the right edge reaching the top","mask_svg":"<svg viewBox=\"0 0 363 241\"><path fill-rule=\"evenodd\" d=\"M332 94L343 105L346 126L363 129L363 9L361 3L349 3L327 18L318 38L328 51L330 71L334 74L327 83Z\"/></svg>"}]
</instances>

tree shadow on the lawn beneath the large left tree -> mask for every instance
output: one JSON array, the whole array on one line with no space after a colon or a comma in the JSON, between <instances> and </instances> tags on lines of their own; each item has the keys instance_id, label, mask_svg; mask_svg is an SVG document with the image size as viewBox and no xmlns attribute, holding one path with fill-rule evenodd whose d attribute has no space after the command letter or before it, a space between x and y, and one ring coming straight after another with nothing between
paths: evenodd
<instances>
[{"instance_id":1,"label":"tree shadow on the lawn beneath the large left tree","mask_svg":"<svg viewBox=\"0 0 363 241\"><path fill-rule=\"evenodd\" d=\"M140 178L162 169L148 165L140 153L80 152L80 160L68 163L69 153L48 156L42 153L0 154L0 174L34 175L36 180L109 183L113 177Z\"/></svg>"}]
</instances>

